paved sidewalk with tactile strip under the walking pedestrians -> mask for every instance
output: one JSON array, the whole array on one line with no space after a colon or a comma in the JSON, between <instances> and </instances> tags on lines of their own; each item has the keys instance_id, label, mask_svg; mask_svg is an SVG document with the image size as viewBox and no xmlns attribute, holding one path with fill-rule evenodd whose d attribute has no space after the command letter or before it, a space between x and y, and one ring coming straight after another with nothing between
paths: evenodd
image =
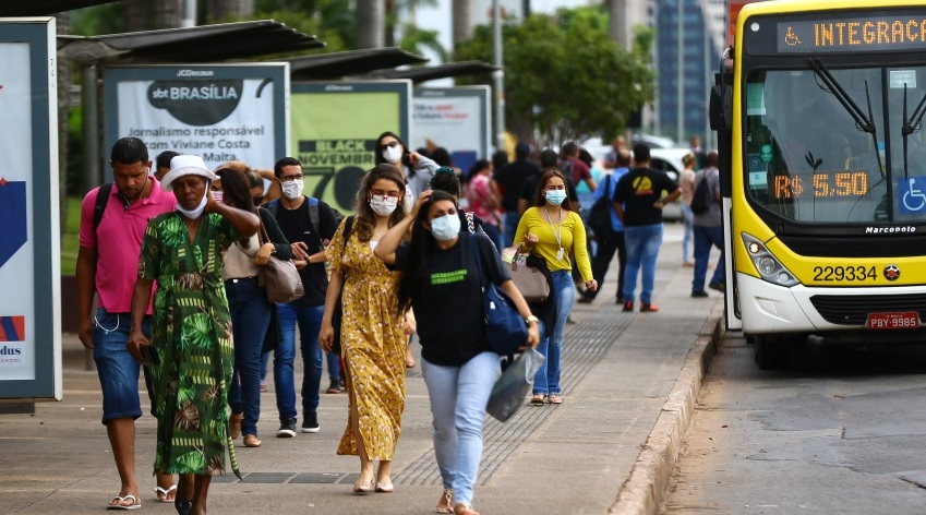
<instances>
[{"instance_id":1,"label":"paved sidewalk with tactile strip under the walking pedestrians","mask_svg":"<svg viewBox=\"0 0 926 515\"><path fill-rule=\"evenodd\" d=\"M681 226L666 225L654 296L659 313L621 312L614 303L615 260L598 300L573 310L578 323L568 326L564 342L564 404L525 406L506 423L488 418L473 501L478 511L656 513L712 351L711 338L722 326L719 295L688 297L692 270L680 266L681 232ZM84 349L74 335L64 335L63 352L61 403L37 404L34 416L0 415L0 513L101 513L119 492L99 422L96 372L85 370ZM297 363L297 384L301 369ZM327 376L322 387L326 384ZM347 421L346 394L322 395L320 433L277 439L273 383L268 386L258 424L263 446L236 442L244 479L214 478L211 513L434 513L441 482L420 367L408 373L392 494L352 493L359 460L335 454ZM143 384L141 390L147 410ZM154 418L139 419L136 433L142 510L176 513L172 504L155 502L148 476Z\"/></svg>"}]
</instances>

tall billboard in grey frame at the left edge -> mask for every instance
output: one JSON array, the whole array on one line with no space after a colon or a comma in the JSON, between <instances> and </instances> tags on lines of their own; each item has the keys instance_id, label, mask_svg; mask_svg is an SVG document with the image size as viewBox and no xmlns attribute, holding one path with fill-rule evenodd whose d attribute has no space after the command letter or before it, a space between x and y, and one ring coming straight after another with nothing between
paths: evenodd
<instances>
[{"instance_id":1,"label":"tall billboard in grey frame at the left edge","mask_svg":"<svg viewBox=\"0 0 926 515\"><path fill-rule=\"evenodd\" d=\"M0 19L0 399L61 399L55 19Z\"/></svg>"}]
</instances>

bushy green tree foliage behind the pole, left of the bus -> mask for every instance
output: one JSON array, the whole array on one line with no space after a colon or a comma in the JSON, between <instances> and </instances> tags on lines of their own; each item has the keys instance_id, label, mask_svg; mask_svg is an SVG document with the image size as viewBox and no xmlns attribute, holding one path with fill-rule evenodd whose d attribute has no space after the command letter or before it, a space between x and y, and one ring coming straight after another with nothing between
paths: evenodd
<instances>
[{"instance_id":1,"label":"bushy green tree foliage behind the pole, left of the bus","mask_svg":"<svg viewBox=\"0 0 926 515\"><path fill-rule=\"evenodd\" d=\"M633 52L622 49L609 39L608 15L599 8L534 14L520 24L508 20L502 37L505 119L519 135L539 130L567 141L615 134L653 98L646 37ZM472 40L458 45L455 60L471 59L493 62L490 26L477 27Z\"/></svg>"}]
</instances>

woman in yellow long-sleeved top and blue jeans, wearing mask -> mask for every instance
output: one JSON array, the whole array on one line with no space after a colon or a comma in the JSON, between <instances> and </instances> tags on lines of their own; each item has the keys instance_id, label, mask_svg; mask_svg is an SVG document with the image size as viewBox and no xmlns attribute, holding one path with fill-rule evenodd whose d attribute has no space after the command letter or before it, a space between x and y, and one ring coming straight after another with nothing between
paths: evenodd
<instances>
[{"instance_id":1,"label":"woman in yellow long-sleeved top and blue jeans, wearing mask","mask_svg":"<svg viewBox=\"0 0 926 515\"><path fill-rule=\"evenodd\" d=\"M533 380L533 397L530 402L534 405L544 402L563 403L560 386L561 347L566 319L576 300L570 254L575 253L586 287L592 291L598 289L586 247L586 228L579 214L569 211L566 196L563 173L555 168L548 169L540 177L533 207L524 213L515 233L515 244L524 243L521 252L533 253L546 261L552 279L550 301L556 308L556 323L553 327L546 327L546 334L537 347L546 360Z\"/></svg>"}]
</instances>

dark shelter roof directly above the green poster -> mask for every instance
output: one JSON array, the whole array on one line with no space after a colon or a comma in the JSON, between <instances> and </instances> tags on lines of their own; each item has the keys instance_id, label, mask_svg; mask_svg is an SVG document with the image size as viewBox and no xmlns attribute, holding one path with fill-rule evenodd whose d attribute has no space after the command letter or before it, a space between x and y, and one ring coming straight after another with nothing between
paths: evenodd
<instances>
[{"instance_id":1,"label":"dark shelter roof directly above the green poster","mask_svg":"<svg viewBox=\"0 0 926 515\"><path fill-rule=\"evenodd\" d=\"M279 60L289 62L290 77L293 81L340 79L345 75L359 75L375 70L428 62L428 58L423 56L395 47L318 53Z\"/></svg>"}]
</instances>

